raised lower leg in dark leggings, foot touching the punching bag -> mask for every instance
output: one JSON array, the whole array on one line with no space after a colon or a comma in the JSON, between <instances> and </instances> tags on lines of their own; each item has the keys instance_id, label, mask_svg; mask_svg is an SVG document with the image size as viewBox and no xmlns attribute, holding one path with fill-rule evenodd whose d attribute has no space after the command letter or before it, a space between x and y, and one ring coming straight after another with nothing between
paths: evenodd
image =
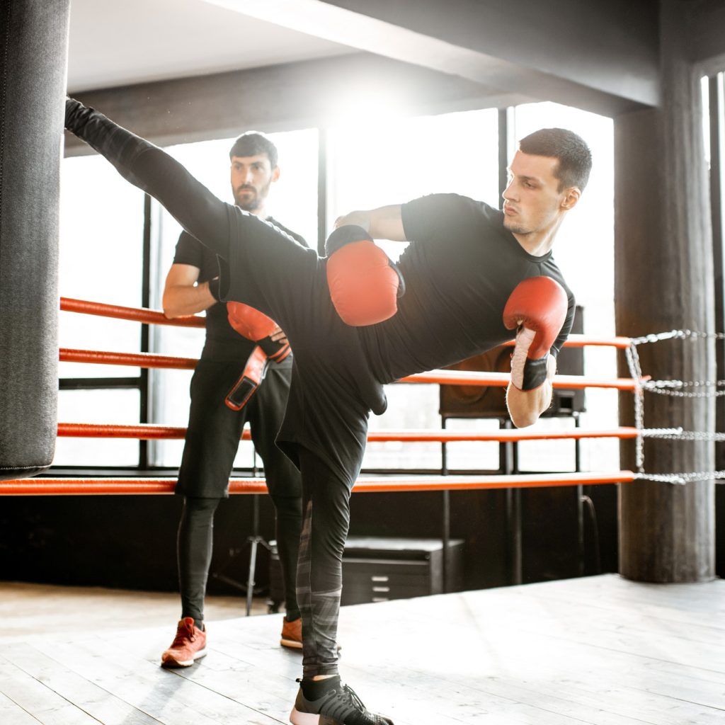
<instances>
[{"instance_id":1,"label":"raised lower leg in dark leggings, foot touching the punching bag","mask_svg":"<svg viewBox=\"0 0 725 725\"><path fill-rule=\"evenodd\" d=\"M228 208L166 152L73 99L65 104L65 127L106 157L120 175L157 199L205 247L228 259Z\"/></svg>"}]
</instances>

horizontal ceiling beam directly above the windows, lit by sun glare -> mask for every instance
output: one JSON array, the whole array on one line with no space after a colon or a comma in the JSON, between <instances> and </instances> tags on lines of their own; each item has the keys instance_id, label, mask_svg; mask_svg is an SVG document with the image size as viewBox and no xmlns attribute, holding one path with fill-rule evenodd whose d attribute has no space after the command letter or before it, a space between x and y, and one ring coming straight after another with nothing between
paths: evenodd
<instances>
[{"instance_id":1,"label":"horizontal ceiling beam directly above the windows, lit by sun glare","mask_svg":"<svg viewBox=\"0 0 725 725\"><path fill-rule=\"evenodd\" d=\"M274 132L325 128L344 119L360 123L366 113L426 115L531 101L366 53L74 95L159 146L231 137L250 128ZM67 156L92 153L70 133L65 141Z\"/></svg>"}]
</instances>

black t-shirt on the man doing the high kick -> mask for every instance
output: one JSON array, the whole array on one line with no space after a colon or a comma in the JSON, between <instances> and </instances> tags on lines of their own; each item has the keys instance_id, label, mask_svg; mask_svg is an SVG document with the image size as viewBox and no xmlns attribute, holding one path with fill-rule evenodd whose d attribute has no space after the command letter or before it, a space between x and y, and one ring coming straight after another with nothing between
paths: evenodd
<instances>
[{"instance_id":1,"label":"black t-shirt on the man doing the high kick","mask_svg":"<svg viewBox=\"0 0 725 725\"><path fill-rule=\"evenodd\" d=\"M503 309L515 286L534 276L554 278L568 295L566 321L552 346L558 354L575 303L551 252L529 254L504 227L503 212L457 194L403 204L402 223L411 241L399 260L406 293L397 315L367 328L376 337L368 349L378 379L450 365L511 339Z\"/></svg>"}]
</instances>

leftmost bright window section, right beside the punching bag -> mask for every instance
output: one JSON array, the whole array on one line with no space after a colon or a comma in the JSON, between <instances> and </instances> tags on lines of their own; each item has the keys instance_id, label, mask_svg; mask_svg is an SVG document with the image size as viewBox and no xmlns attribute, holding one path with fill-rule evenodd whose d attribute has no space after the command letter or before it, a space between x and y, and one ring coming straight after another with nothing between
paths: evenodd
<instances>
[{"instance_id":1,"label":"leftmost bright window section, right beside the punching bag","mask_svg":"<svg viewBox=\"0 0 725 725\"><path fill-rule=\"evenodd\" d=\"M144 194L98 156L64 159L60 203L62 297L141 305ZM61 348L136 352L141 326L61 312ZM138 423L140 369L60 363L61 422ZM103 380L103 378L106 378ZM110 380L108 378L111 378ZM124 385L112 389L114 385ZM136 386L136 390L128 386ZM59 438L54 465L138 465L138 441Z\"/></svg>"}]
</instances>

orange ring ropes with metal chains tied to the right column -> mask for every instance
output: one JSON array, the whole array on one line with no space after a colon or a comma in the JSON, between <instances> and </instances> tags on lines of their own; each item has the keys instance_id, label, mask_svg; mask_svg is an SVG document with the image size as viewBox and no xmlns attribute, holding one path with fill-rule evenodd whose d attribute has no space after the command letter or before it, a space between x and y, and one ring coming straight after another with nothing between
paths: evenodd
<instances>
[{"instance_id":1,"label":"orange ring ropes with metal chains tied to the right column","mask_svg":"<svg viewBox=\"0 0 725 725\"><path fill-rule=\"evenodd\" d=\"M98 315L104 318L128 320L146 325L169 325L188 328L203 328L204 317L191 315L169 320L162 312L146 308L107 305L101 302L88 302L80 299L62 297L60 310L85 315ZM682 484L685 481L705 478L721 479L722 471L703 473L671 473L648 474L644 470L643 441L647 437L667 439L725 439L722 434L682 431L682 428L654 428L643 426L643 402L645 391L697 397L706 394L720 395L723 390L709 393L713 386L720 388L725 381L711 383L707 381L683 383L680 381L651 381L639 370L637 345L659 341L661 339L703 336L691 331L672 331L646 338L631 339L624 336L603 338L573 334L566 341L565 347L613 347L625 350L628 356L630 378L592 378L588 376L558 375L554 378L554 388L586 389L600 388L631 392L634 397L636 426L619 426L608 430L586 430L576 428L573 431L529 431L502 429L494 432L463 432L440 430L389 430L371 431L368 442L521 442L534 440L579 441L592 438L633 439L637 443L637 471L595 471L576 473L538 473L508 476L364 476L357 481L353 492L405 492L405 491L452 491L477 489L526 488L537 486L576 486L594 484L627 484L638 479L663 481ZM513 345L513 341L509 344ZM158 355L149 352L107 352L88 349L59 350L59 361L65 363L95 363L99 365L128 365L139 368L159 368L176 370L193 370L196 358ZM469 372L463 370L433 370L402 378L399 383L405 384L438 384L466 386L508 386L508 373ZM687 392L687 388L695 392ZM704 391L704 392L703 392ZM139 440L152 439L183 439L186 428L178 426L154 425L140 423L136 425L113 425L91 423L58 423L57 435L80 438L130 438ZM242 439L249 440L249 431L245 428ZM699 478L698 478L699 477ZM57 494L170 494L173 493L175 479L159 478L53 478L43 476L36 479L20 479L0 481L2 495L57 495ZM262 478L231 479L231 494L260 494L266 492Z\"/></svg>"}]
</instances>

